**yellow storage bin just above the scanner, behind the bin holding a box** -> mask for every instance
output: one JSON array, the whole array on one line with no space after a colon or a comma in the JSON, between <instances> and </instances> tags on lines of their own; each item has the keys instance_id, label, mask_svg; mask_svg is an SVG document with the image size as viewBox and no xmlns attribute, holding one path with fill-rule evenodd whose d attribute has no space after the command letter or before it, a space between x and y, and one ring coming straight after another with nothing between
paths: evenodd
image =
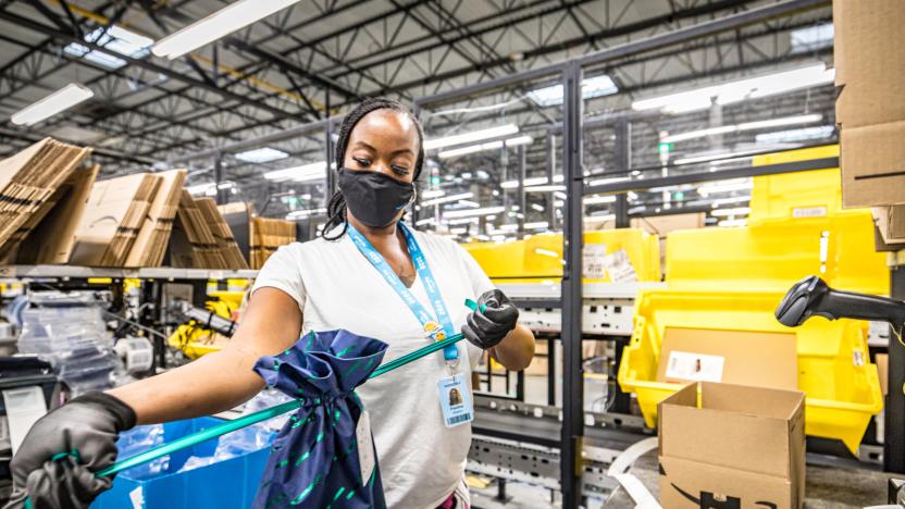
<instances>
[{"instance_id":1,"label":"yellow storage bin just above the scanner, behind the bin holding a box","mask_svg":"<svg viewBox=\"0 0 905 509\"><path fill-rule=\"evenodd\" d=\"M839 289L890 291L889 269L883 253L873 250L873 222L866 211L672 232L666 253L666 281L674 288L785 291L803 277L820 275Z\"/></svg>"}]
</instances>

